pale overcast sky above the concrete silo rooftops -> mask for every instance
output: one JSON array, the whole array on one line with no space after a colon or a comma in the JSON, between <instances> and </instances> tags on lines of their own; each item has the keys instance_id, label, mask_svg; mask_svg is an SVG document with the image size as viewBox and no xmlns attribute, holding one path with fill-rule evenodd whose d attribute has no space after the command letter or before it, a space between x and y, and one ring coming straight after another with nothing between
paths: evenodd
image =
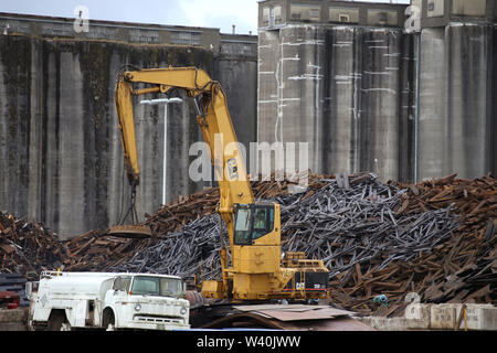
<instances>
[{"instance_id":1,"label":"pale overcast sky above the concrete silo rooftops","mask_svg":"<svg viewBox=\"0 0 497 353\"><path fill-rule=\"evenodd\" d=\"M0 0L0 12L74 18L78 6L89 10L91 20L205 26L223 33L236 24L236 33L257 33L256 0Z\"/></svg>"}]
</instances>

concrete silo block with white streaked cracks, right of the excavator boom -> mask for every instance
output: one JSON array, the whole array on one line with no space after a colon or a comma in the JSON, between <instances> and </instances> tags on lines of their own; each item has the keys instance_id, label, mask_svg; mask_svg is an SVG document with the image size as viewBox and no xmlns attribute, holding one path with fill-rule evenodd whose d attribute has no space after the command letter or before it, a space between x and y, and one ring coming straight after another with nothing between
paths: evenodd
<instances>
[{"instance_id":1,"label":"concrete silo block with white streaked cracks, right of the excavator boom","mask_svg":"<svg viewBox=\"0 0 497 353\"><path fill-rule=\"evenodd\" d=\"M404 93L413 94L403 69L410 39L353 26L288 25L277 33L260 34L260 141L308 142L314 172L398 179L401 143L411 141L400 131L410 128L402 110Z\"/></svg>"}]
</instances>

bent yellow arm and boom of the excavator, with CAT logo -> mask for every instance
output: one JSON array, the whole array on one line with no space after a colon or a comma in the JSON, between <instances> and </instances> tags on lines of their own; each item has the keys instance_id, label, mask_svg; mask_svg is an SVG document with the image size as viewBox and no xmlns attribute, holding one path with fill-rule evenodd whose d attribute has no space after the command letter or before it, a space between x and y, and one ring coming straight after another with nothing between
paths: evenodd
<instances>
[{"instance_id":1,"label":"bent yellow arm and boom of the excavator, with CAT logo","mask_svg":"<svg viewBox=\"0 0 497 353\"><path fill-rule=\"evenodd\" d=\"M150 88L133 89L133 83L146 83ZM115 104L121 131L125 168L131 185L139 183L133 96L148 93L166 94L181 88L195 99L198 124L210 148L211 162L220 184L220 208L230 228L234 204L252 204L254 196L247 179L245 162L228 110L226 96L221 85L197 67L169 67L125 72L118 79ZM230 234L230 242L233 242Z\"/></svg>"}]
</instances>

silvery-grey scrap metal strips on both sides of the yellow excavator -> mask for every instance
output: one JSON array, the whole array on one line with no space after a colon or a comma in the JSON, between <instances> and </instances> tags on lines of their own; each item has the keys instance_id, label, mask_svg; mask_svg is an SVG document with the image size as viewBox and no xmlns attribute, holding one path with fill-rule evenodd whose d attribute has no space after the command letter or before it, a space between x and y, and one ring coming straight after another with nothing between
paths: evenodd
<instances>
[{"instance_id":1,"label":"silvery-grey scrap metal strips on both sides of the yellow excavator","mask_svg":"<svg viewBox=\"0 0 497 353\"><path fill-rule=\"evenodd\" d=\"M322 182L326 185L314 193L272 201L282 205L282 250L324 259L330 279L339 276L347 282L356 264L369 270L373 259L381 259L379 269L408 261L446 242L457 227L450 208L400 216L393 210L405 190L384 185L373 174L352 180L347 189L337 180ZM110 270L219 278L220 232L218 215L200 217Z\"/></svg>"}]
</instances>

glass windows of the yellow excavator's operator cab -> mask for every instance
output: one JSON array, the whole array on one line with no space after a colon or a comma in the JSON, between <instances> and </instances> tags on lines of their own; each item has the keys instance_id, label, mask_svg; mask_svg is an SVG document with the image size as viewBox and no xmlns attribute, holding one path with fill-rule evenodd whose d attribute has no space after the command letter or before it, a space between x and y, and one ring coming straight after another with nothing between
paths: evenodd
<instances>
[{"instance_id":1,"label":"glass windows of the yellow excavator's operator cab","mask_svg":"<svg viewBox=\"0 0 497 353\"><path fill-rule=\"evenodd\" d=\"M274 228L274 206L239 206L235 214L234 244L252 245Z\"/></svg>"}]
</instances>

